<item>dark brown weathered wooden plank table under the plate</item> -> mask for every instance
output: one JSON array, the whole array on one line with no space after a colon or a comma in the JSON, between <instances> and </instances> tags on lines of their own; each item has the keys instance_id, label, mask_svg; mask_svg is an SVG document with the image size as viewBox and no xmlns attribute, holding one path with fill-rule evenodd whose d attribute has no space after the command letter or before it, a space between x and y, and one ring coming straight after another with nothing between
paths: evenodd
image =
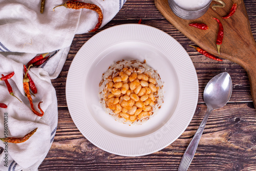
<instances>
[{"instance_id":1,"label":"dark brown weathered wooden plank table under the plate","mask_svg":"<svg viewBox=\"0 0 256 171\"><path fill-rule=\"evenodd\" d=\"M256 39L256 1L244 0L244 3ZM151 155L122 157L94 146L79 132L67 107L66 78L77 51L89 38L112 26L138 23L139 19L142 19L141 24L173 36L185 48L197 71L199 99L193 119L176 141ZM228 72L232 78L232 96L223 108L209 116L188 170L256 170L256 110L247 73L242 67L225 59L223 62L209 59L189 47L193 42L161 15L154 0L127 0L111 22L97 32L74 37L65 66L58 78L52 80L58 98L58 127L52 147L38 170L177 170L206 113L204 88L212 77L221 72Z\"/></svg>"}]
</instances>

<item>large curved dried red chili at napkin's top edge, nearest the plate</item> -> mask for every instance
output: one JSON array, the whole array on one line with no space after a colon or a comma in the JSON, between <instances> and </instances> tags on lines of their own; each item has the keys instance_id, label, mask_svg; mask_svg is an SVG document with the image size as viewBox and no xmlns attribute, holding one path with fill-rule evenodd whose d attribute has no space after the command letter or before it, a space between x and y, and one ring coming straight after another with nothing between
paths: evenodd
<instances>
[{"instance_id":1,"label":"large curved dried red chili at napkin's top edge, nearest the plate","mask_svg":"<svg viewBox=\"0 0 256 171\"><path fill-rule=\"evenodd\" d=\"M56 7L60 7L60 6L64 6L66 8L72 8L72 9L76 9L76 10L77 9L81 9L81 8L86 8L86 9L93 10L93 11L97 12L98 15L99 15L98 16L98 23L96 24L95 28L93 30L91 30L90 32L97 31L99 29L101 23L102 23L102 19L103 19L102 11L95 4L89 4L89 3L84 3L84 2L68 1L65 4L62 4L62 5L59 5L59 6L56 6ZM54 9L56 7L53 8L53 11L54 11Z\"/></svg>"}]
</instances>

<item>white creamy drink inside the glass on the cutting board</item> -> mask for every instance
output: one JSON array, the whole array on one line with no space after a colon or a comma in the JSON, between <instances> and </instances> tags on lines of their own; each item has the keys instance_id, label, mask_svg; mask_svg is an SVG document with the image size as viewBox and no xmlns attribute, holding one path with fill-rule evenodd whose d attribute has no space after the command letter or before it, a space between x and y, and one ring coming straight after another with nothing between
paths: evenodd
<instances>
[{"instance_id":1,"label":"white creamy drink inside the glass on the cutting board","mask_svg":"<svg viewBox=\"0 0 256 171\"><path fill-rule=\"evenodd\" d=\"M181 8L187 10L197 10L205 7L210 0L174 0L174 2Z\"/></svg>"}]
</instances>

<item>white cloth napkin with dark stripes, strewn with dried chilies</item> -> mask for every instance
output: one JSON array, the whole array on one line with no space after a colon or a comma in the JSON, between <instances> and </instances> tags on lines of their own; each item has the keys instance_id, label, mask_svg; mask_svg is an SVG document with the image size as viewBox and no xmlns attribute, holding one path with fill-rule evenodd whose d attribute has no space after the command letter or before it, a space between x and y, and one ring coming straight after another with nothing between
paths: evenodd
<instances>
[{"instance_id":1,"label":"white cloth napkin with dark stripes, strewn with dried chilies","mask_svg":"<svg viewBox=\"0 0 256 171\"><path fill-rule=\"evenodd\" d=\"M67 58L75 34L87 33L98 23L98 14L88 9L73 10L53 7L66 1L47 1L44 13L40 13L40 0L0 0L0 76L15 72L9 79L15 97L11 96L4 81L0 81L0 102L8 105L0 108L0 137L4 137L7 120L8 137L23 137L38 127L26 142L20 144L0 142L0 170L37 170L45 159L57 129L57 98L51 84ZM103 12L101 27L121 9L125 0L82 1L99 6ZM37 109L39 101L44 116L35 115L23 89L23 65L33 57L49 53L49 59L29 74L38 93L33 97ZM6 117L7 116L7 117ZM7 119L6 119L7 118ZM2 149L2 150L1 150ZM7 156L7 159L6 157ZM7 165L6 165L7 164Z\"/></svg>"}]
</instances>

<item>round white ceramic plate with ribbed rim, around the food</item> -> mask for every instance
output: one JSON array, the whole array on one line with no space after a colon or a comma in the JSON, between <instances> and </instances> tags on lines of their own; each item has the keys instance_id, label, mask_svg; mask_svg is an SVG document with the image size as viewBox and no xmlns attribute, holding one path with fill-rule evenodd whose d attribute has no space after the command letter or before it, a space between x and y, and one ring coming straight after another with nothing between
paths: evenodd
<instances>
[{"instance_id":1,"label":"round white ceramic plate with ribbed rim, around the food","mask_svg":"<svg viewBox=\"0 0 256 171\"><path fill-rule=\"evenodd\" d=\"M126 125L99 103L99 82L122 59L146 59L164 82L159 113L142 125ZM69 69L66 96L79 131L94 145L121 156L142 156L174 142L190 123L198 101L195 67L183 47L154 27L125 24L105 29L77 52Z\"/></svg>"}]
</instances>

